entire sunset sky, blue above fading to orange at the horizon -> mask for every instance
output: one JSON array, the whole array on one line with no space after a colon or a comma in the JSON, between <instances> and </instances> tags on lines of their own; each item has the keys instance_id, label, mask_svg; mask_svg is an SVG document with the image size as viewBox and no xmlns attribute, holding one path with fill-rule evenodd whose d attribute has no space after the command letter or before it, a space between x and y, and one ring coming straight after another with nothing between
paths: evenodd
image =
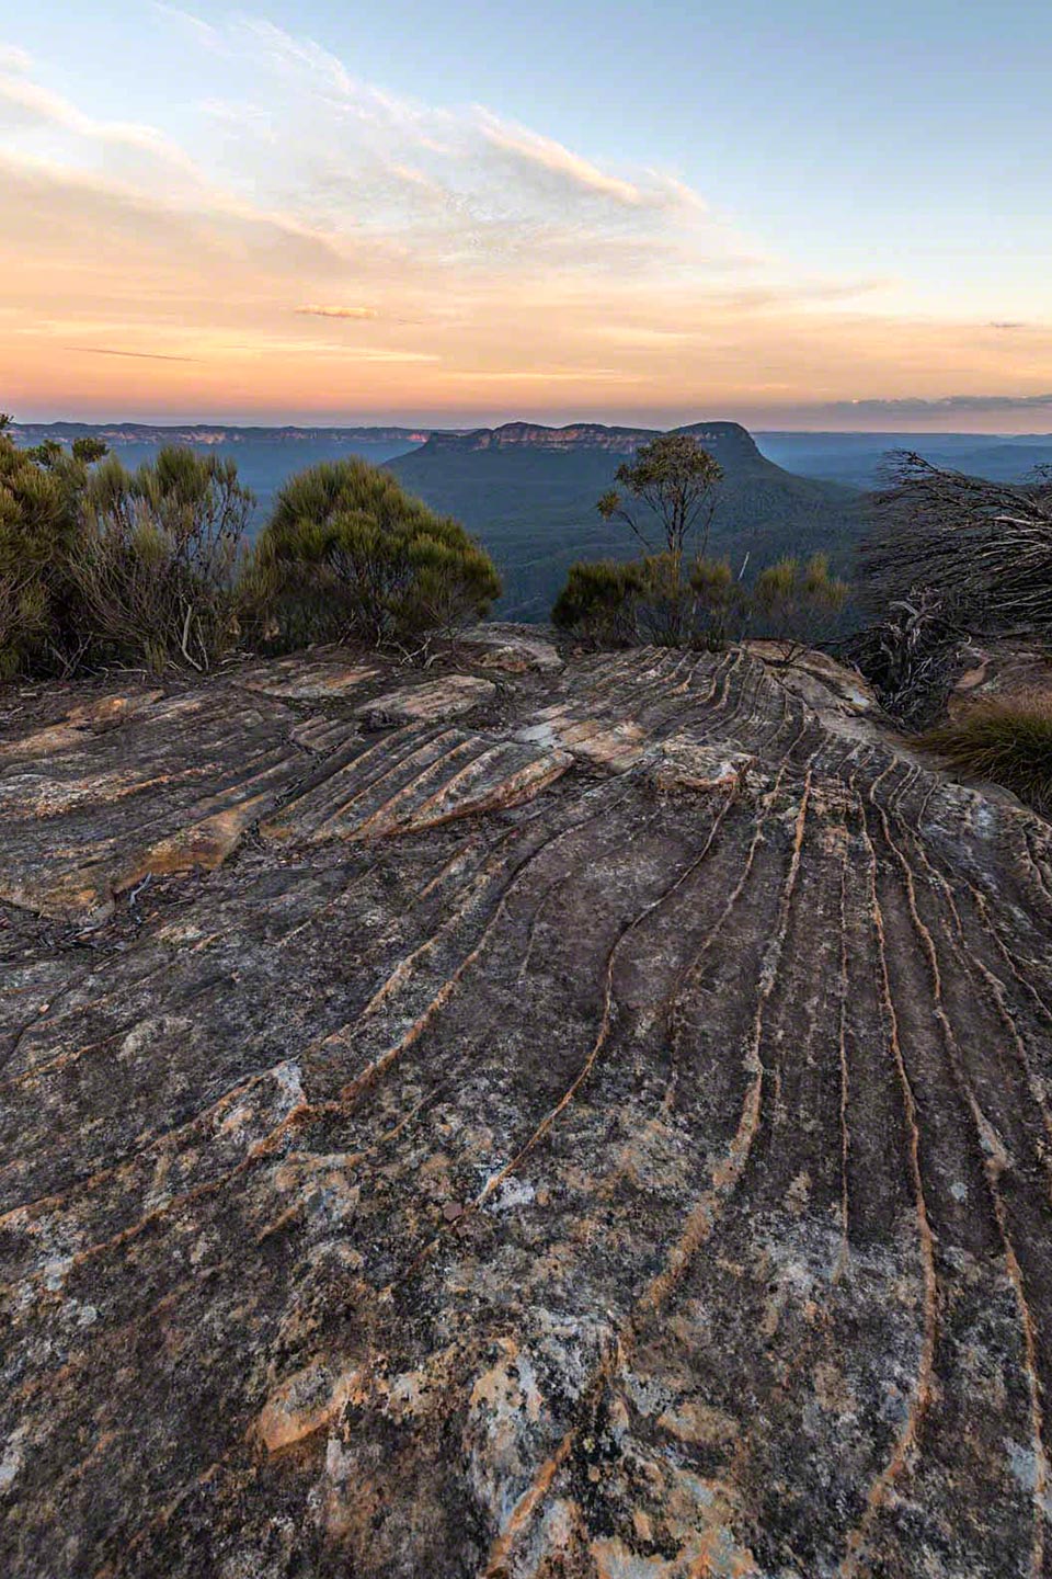
<instances>
[{"instance_id":1,"label":"entire sunset sky, blue above fading to orange at the horizon","mask_svg":"<svg viewBox=\"0 0 1052 1579\"><path fill-rule=\"evenodd\" d=\"M1052 431L1049 0L0 0L21 420Z\"/></svg>"}]
</instances>

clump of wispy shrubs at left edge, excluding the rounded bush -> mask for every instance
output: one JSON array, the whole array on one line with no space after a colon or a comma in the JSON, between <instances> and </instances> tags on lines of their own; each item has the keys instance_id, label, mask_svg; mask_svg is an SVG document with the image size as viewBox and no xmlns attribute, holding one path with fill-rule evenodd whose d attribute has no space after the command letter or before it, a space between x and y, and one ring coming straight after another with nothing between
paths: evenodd
<instances>
[{"instance_id":1,"label":"clump of wispy shrubs at left edge, excluding the rounded bush","mask_svg":"<svg viewBox=\"0 0 1052 1579\"><path fill-rule=\"evenodd\" d=\"M233 644L252 494L213 455L126 471L98 439L19 450L0 425L0 677L210 668Z\"/></svg>"}]
</instances>

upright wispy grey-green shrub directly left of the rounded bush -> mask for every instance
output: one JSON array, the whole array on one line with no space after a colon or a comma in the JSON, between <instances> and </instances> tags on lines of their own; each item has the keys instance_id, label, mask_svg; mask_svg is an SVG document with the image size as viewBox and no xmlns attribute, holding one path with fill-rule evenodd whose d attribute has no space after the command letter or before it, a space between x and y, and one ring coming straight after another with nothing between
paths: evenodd
<instances>
[{"instance_id":1,"label":"upright wispy grey-green shrub directly left of the rounded bush","mask_svg":"<svg viewBox=\"0 0 1052 1579\"><path fill-rule=\"evenodd\" d=\"M84 489L69 573L99 657L208 669L238 636L237 578L254 496L237 466L164 448L128 472L107 459Z\"/></svg>"}]
</instances>

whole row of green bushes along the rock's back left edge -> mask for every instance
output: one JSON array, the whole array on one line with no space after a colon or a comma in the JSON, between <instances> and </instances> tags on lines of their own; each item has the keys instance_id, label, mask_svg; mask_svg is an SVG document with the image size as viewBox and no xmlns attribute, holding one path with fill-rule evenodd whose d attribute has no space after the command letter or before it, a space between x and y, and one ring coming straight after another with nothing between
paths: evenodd
<instances>
[{"instance_id":1,"label":"whole row of green bushes along the rock's back left edge","mask_svg":"<svg viewBox=\"0 0 1052 1579\"><path fill-rule=\"evenodd\" d=\"M19 450L0 420L0 677L107 663L210 669L237 646L345 636L420 654L500 592L492 561L360 459L278 496L254 553L232 461L164 448L128 471L95 439Z\"/></svg>"}]
</instances>

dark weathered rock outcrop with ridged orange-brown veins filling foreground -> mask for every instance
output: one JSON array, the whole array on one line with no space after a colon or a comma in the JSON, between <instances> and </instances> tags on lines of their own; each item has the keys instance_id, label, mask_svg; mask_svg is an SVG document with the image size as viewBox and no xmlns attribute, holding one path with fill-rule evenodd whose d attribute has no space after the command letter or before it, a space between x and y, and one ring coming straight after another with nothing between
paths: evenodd
<instances>
[{"instance_id":1,"label":"dark weathered rock outcrop with ridged orange-brown veins filling foreground","mask_svg":"<svg viewBox=\"0 0 1052 1579\"><path fill-rule=\"evenodd\" d=\"M755 654L382 668L8 715L2 1571L1047 1579L1049 826Z\"/></svg>"}]
</instances>

